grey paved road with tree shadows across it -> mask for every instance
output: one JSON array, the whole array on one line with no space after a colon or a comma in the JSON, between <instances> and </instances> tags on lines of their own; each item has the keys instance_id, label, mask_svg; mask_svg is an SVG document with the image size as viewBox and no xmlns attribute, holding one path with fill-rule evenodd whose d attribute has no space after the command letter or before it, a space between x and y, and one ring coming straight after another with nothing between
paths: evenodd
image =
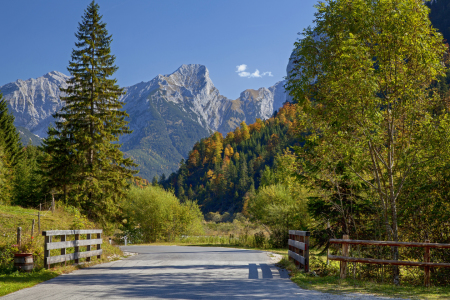
<instances>
[{"instance_id":1,"label":"grey paved road with tree shadows across it","mask_svg":"<svg viewBox=\"0 0 450 300\"><path fill-rule=\"evenodd\" d=\"M210 247L129 246L139 255L61 275L10 299L381 299L298 288L266 252Z\"/></svg>"}]
</instances>

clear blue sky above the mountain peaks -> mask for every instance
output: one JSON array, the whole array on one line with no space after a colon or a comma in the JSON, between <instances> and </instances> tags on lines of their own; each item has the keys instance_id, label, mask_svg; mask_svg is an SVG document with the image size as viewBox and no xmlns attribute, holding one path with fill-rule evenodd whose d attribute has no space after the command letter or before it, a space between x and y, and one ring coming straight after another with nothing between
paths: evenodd
<instances>
[{"instance_id":1,"label":"clear blue sky above the mountain peaks","mask_svg":"<svg viewBox=\"0 0 450 300\"><path fill-rule=\"evenodd\" d=\"M97 1L113 35L111 49L117 57L115 77L120 86L197 63L209 69L214 85L231 99L286 76L297 33L312 25L317 2ZM53 70L68 74L74 33L89 3L3 1L0 86Z\"/></svg>"}]
</instances>

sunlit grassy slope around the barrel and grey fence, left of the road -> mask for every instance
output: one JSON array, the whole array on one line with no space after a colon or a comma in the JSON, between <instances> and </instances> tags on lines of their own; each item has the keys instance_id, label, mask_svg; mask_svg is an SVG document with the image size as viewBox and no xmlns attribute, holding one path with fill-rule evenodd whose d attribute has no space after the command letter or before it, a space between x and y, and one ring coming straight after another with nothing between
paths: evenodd
<instances>
[{"instance_id":1,"label":"sunlit grassy slope around the barrel and grey fence, left of the road","mask_svg":"<svg viewBox=\"0 0 450 300\"><path fill-rule=\"evenodd\" d=\"M4 255L7 251L9 251L9 245L16 243L16 232L17 227L19 226L22 227L23 243L29 244L30 250L35 254L35 270L31 273L19 273L15 271L12 268L12 261L8 264L0 264L0 297L23 288L34 286L60 274L69 273L77 268L110 261L123 255L119 248L109 245L107 242L107 236L103 236L103 255L101 259L93 257L92 262L89 264L79 266L62 266L59 264L54 264L49 270L43 269L44 239L37 233L37 212L38 211L35 209L24 209L18 206L0 205L0 249L3 252L1 255ZM33 219L36 220L36 227L34 234L35 236L33 241L31 241L30 232ZM73 229L74 226L77 228L84 227L86 229L100 228L95 223L90 222L81 216L77 216L77 214L73 211L65 211L62 208L58 208L53 214L49 211L42 212L41 230ZM70 250L71 249L69 248L68 253L71 252ZM56 253L52 254L57 255ZM4 259L0 260L0 262L4 262Z\"/></svg>"}]
</instances>

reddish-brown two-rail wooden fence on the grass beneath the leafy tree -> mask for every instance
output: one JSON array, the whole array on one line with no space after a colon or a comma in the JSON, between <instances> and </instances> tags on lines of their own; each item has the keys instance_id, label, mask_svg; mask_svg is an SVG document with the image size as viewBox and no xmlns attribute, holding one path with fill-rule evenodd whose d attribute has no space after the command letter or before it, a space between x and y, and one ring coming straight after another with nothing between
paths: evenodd
<instances>
[{"instance_id":1,"label":"reddish-brown two-rail wooden fence on the grass beneath the leafy tree","mask_svg":"<svg viewBox=\"0 0 450 300\"><path fill-rule=\"evenodd\" d=\"M328 255L328 259L341 262L341 278L346 277L347 262L360 262L367 264L380 265L398 265L398 266L415 266L424 267L425 278L424 284L430 286L430 267L450 268L450 263L434 263L430 262L430 248L450 248L450 244L436 244L425 241L425 243L416 242L386 242L386 241L369 241L369 240L350 240L348 235L344 235L341 239L330 239L330 244L342 244L342 256ZM424 248L424 261L402 261L402 260L385 260L374 258L349 257L350 245L376 245L390 247L421 247Z\"/></svg>"}]
</instances>

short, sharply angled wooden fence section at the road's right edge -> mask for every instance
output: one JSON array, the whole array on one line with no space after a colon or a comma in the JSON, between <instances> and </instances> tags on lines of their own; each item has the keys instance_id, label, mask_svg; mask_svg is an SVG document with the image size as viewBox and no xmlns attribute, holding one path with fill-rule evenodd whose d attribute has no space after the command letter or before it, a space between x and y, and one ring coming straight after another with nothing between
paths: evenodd
<instances>
[{"instance_id":1,"label":"short, sharply angled wooden fence section at the road's right edge","mask_svg":"<svg viewBox=\"0 0 450 300\"><path fill-rule=\"evenodd\" d=\"M309 231L289 230L289 258L309 272Z\"/></svg>"}]
</instances>

